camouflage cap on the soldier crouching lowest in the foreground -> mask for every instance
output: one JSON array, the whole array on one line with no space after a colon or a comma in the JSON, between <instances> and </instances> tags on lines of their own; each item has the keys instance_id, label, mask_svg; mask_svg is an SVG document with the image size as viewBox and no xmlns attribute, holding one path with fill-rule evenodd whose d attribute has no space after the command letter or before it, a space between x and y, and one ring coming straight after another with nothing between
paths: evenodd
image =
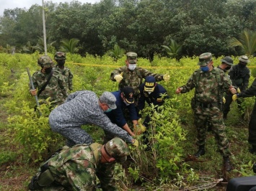
<instances>
[{"instance_id":1,"label":"camouflage cap on the soldier crouching lowest in the foreground","mask_svg":"<svg viewBox=\"0 0 256 191\"><path fill-rule=\"evenodd\" d=\"M130 154L129 147L122 139L115 137L105 144L107 153L114 157L117 162L125 162L128 154Z\"/></svg>"}]
</instances>

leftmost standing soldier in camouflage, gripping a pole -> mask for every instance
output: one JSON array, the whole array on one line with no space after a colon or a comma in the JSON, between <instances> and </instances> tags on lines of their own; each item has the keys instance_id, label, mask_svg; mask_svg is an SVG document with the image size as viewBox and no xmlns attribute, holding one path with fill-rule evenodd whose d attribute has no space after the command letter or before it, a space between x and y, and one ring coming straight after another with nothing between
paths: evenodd
<instances>
[{"instance_id":1,"label":"leftmost standing soldier in camouflage, gripping a pole","mask_svg":"<svg viewBox=\"0 0 256 191\"><path fill-rule=\"evenodd\" d=\"M31 95L37 95L41 88L45 85L50 75L50 81L45 86L45 89L38 95L41 100L40 103L45 103L45 99L50 97L50 102L52 106L58 106L63 103L68 96L68 91L66 87L63 75L60 72L53 70L53 60L47 55L41 56L37 60L37 64L42 67L40 71L35 72L32 75L32 81L35 86L35 90L31 90Z\"/></svg>"}]
</instances>

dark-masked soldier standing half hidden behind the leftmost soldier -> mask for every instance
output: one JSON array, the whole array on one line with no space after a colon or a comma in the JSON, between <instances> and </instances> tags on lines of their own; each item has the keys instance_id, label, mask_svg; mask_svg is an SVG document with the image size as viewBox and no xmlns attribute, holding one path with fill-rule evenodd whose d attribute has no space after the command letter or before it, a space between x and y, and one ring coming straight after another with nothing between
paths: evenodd
<instances>
[{"instance_id":1,"label":"dark-masked soldier standing half hidden behind the leftmost soldier","mask_svg":"<svg viewBox=\"0 0 256 191\"><path fill-rule=\"evenodd\" d=\"M54 60L56 60L57 65L56 67L53 67L53 70L59 71L66 81L66 86L69 88L70 91L73 90L73 74L68 67L64 66L66 60L66 53L56 52L56 54L54 55Z\"/></svg>"}]
</instances>

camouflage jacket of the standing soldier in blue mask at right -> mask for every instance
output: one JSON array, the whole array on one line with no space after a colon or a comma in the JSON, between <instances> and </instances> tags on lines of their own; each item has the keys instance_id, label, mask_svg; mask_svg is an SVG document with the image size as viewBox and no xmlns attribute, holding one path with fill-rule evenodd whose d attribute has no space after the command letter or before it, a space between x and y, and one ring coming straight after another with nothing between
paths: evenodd
<instances>
[{"instance_id":1,"label":"camouflage jacket of the standing soldier in blue mask at right","mask_svg":"<svg viewBox=\"0 0 256 191\"><path fill-rule=\"evenodd\" d=\"M195 88L195 99L200 103L216 103L222 98L224 92L228 92L231 80L228 75L218 68L211 72L203 73L200 69L190 76L186 85L182 85L181 93L187 93Z\"/></svg>"}]
</instances>

